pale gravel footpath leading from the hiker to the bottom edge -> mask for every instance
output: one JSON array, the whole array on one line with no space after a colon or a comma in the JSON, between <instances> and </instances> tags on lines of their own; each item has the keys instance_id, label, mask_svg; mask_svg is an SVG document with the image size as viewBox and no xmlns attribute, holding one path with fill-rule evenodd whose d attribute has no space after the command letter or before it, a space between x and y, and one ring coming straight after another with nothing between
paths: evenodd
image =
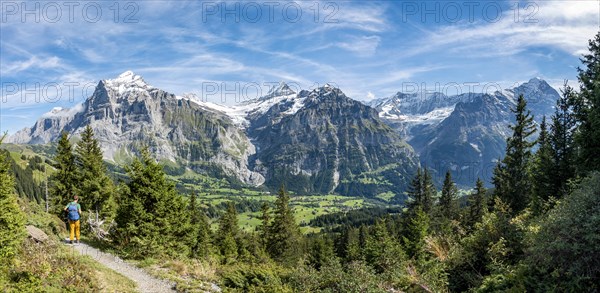
<instances>
[{"instance_id":1,"label":"pale gravel footpath leading from the hiker to the bottom edge","mask_svg":"<svg viewBox=\"0 0 600 293\"><path fill-rule=\"evenodd\" d=\"M76 250L83 255L88 255L111 270L133 280L140 292L176 292L173 289L173 283L153 277L142 269L124 262L115 255L104 253L85 243L68 245L70 249Z\"/></svg>"}]
</instances>

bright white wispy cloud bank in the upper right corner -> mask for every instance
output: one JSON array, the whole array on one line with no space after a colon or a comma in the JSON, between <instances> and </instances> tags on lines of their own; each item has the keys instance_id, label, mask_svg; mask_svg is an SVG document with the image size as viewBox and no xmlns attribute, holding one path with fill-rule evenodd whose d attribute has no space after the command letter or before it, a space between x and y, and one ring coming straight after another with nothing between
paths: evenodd
<instances>
[{"instance_id":1,"label":"bright white wispy cloud bank in the upper right corner","mask_svg":"<svg viewBox=\"0 0 600 293\"><path fill-rule=\"evenodd\" d=\"M587 40L598 32L599 2L535 2L535 14L505 11L500 21L445 26L419 42L413 54L446 48L456 54L514 55L530 47L549 46L573 55L585 52ZM531 8L531 13L533 13ZM517 17L517 18L515 18ZM426 46L425 46L426 45ZM471 55L473 57L473 55Z\"/></svg>"}]
</instances>

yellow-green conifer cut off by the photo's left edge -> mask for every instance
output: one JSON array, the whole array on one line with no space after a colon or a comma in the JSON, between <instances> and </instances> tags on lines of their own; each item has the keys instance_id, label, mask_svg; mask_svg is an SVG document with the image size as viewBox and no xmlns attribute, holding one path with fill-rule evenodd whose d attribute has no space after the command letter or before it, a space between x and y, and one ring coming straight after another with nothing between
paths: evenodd
<instances>
[{"instance_id":1,"label":"yellow-green conifer cut off by the photo's left edge","mask_svg":"<svg viewBox=\"0 0 600 293\"><path fill-rule=\"evenodd\" d=\"M0 145L4 136L0 137ZM25 238L25 215L17 201L8 156L0 153L0 265L13 264Z\"/></svg>"}]
</instances>

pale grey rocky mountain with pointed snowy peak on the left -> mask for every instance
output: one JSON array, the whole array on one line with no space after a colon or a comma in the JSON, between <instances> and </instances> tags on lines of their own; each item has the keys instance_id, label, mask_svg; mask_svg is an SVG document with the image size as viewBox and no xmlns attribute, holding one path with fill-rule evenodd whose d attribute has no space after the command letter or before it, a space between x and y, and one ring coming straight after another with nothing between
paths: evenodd
<instances>
[{"instance_id":1,"label":"pale grey rocky mountain with pointed snowy peak on the left","mask_svg":"<svg viewBox=\"0 0 600 293\"><path fill-rule=\"evenodd\" d=\"M100 81L78 111L45 114L9 140L44 144L56 141L63 130L76 136L86 125L94 130L108 160L121 162L147 146L157 159L196 172L252 185L264 182L262 175L248 169L253 144L227 116L152 87L130 71Z\"/></svg>"}]
</instances>

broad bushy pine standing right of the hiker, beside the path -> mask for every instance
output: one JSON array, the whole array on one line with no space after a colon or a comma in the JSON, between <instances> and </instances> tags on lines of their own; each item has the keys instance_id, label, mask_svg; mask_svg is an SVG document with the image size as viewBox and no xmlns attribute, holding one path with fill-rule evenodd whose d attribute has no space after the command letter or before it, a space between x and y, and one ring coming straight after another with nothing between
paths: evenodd
<instances>
[{"instance_id":1,"label":"broad bushy pine standing right of the hiker, beside the path","mask_svg":"<svg viewBox=\"0 0 600 293\"><path fill-rule=\"evenodd\" d=\"M162 166L143 149L141 158L135 158L126 170L129 182L115 218L116 243L132 257L189 255L185 239L191 225L186 203Z\"/></svg>"}]
</instances>

